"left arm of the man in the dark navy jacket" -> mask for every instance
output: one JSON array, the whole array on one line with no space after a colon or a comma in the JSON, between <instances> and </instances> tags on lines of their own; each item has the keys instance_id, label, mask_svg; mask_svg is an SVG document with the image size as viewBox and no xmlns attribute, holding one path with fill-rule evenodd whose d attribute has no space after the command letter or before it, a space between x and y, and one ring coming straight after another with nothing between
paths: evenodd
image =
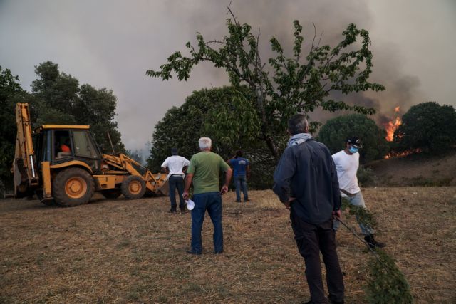
<instances>
[{"instance_id":1,"label":"left arm of the man in the dark navy jacket","mask_svg":"<svg viewBox=\"0 0 456 304\"><path fill-rule=\"evenodd\" d=\"M291 187L290 180L296 172L296 164L294 162L291 149L286 149L282 154L279 164L277 164L276 171L274 172L274 191L279 199L284 204L289 204L291 199Z\"/></svg>"}]
</instances>

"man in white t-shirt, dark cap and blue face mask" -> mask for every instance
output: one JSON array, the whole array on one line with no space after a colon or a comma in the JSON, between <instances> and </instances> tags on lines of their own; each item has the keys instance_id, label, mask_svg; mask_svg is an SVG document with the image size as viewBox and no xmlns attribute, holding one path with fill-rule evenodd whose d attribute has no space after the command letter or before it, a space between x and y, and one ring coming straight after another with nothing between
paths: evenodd
<instances>
[{"instance_id":1,"label":"man in white t-shirt, dark cap and blue face mask","mask_svg":"<svg viewBox=\"0 0 456 304\"><path fill-rule=\"evenodd\" d=\"M346 140L345 149L333 154L333 160L336 164L341 195L348 199L350 204L366 209L363 194L358 186L358 177L356 177L359 167L358 150L360 148L361 140L358 137L350 137ZM361 233L364 235L364 239L371 248L382 248L385 246L384 243L375 241L372 227L363 225L359 221L358 224L361 228ZM333 229L337 230L339 225L340 223L338 221L334 221Z\"/></svg>"}]
</instances>

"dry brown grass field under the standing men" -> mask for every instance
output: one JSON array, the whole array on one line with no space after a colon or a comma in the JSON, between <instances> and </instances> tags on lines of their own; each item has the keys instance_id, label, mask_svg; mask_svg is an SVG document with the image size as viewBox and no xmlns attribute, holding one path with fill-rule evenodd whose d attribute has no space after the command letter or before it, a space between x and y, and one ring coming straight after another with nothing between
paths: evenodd
<instances>
[{"instance_id":1,"label":"dry brown grass field under the standing men","mask_svg":"<svg viewBox=\"0 0 456 304\"><path fill-rule=\"evenodd\" d=\"M378 239L388 245L417 303L456 303L456 187L368 188ZM247 205L224 196L222 255L190 245L190 214L167 214L166 197L62 209L0 200L0 303L301 303L304 261L289 214L271 191ZM353 219L348 224L356 226ZM371 254L338 232L346 303L364 303Z\"/></svg>"}]
</instances>

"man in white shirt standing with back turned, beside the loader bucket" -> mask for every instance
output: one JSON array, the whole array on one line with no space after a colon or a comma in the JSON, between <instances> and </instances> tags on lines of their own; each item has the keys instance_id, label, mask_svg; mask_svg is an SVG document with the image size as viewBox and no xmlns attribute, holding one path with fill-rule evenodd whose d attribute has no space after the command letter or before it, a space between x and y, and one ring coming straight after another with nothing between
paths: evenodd
<instances>
[{"instance_id":1,"label":"man in white shirt standing with back turned, beside the loader bucket","mask_svg":"<svg viewBox=\"0 0 456 304\"><path fill-rule=\"evenodd\" d=\"M176 188L179 193L180 212L185 213L185 202L182 197L182 193L184 192L184 172L190 164L190 161L185 157L177 155L177 148L172 148L171 154L172 156L165 159L165 162L162 163L162 170L168 173L168 184L170 185L170 213L177 213Z\"/></svg>"}]
</instances>

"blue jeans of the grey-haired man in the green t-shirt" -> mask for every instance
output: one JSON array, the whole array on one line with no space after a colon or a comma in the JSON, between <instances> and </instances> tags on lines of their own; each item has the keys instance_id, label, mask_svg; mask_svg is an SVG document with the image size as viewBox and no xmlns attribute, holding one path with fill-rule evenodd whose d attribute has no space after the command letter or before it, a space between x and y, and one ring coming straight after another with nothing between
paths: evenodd
<instances>
[{"instance_id":1,"label":"blue jeans of the grey-haired man in the green t-shirt","mask_svg":"<svg viewBox=\"0 0 456 304\"><path fill-rule=\"evenodd\" d=\"M193 195L192 200L195 201L195 208L192 210L192 251L202 252L201 229L207 210L214 225L214 251L221 252L223 250L222 196L219 192L207 192Z\"/></svg>"}]
</instances>

